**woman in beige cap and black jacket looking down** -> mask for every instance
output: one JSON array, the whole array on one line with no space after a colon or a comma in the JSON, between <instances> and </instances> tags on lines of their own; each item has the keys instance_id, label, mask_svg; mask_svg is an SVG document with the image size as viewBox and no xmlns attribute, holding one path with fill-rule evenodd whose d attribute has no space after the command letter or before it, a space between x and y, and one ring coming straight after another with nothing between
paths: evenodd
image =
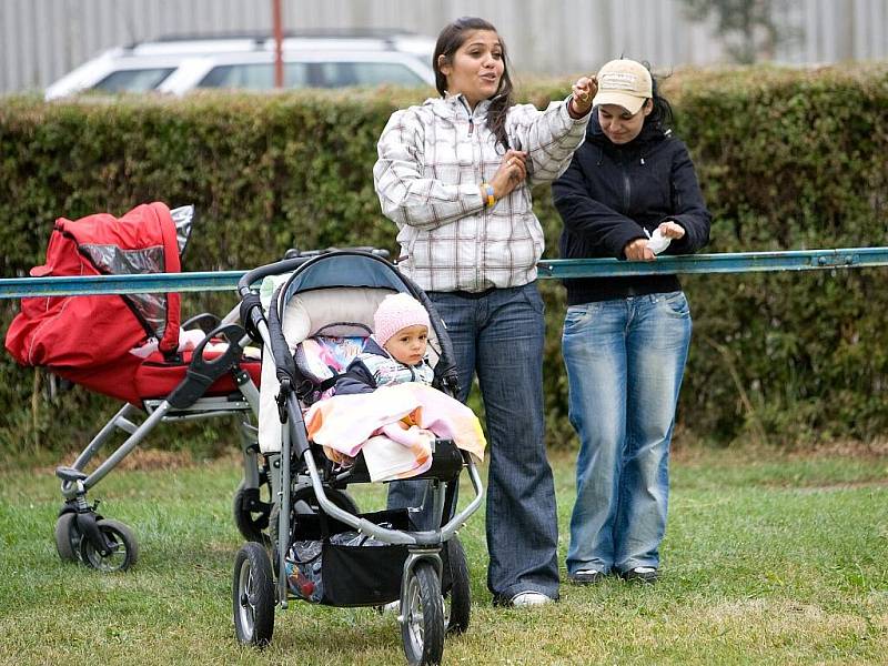
<instances>
[{"instance_id":1,"label":"woman in beige cap and black jacket looking down","mask_svg":"<svg viewBox=\"0 0 888 666\"><path fill-rule=\"evenodd\" d=\"M553 185L564 259L654 261L706 244L710 215L647 68L598 72L586 142ZM690 342L675 275L565 280L562 346L581 440L568 578L653 583L666 528L669 442Z\"/></svg>"}]
</instances>

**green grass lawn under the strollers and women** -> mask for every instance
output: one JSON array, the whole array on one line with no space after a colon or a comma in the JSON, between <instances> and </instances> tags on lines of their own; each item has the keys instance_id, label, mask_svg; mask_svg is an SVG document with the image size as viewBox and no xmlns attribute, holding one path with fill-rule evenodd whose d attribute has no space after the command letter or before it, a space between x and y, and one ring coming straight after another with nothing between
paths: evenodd
<instances>
[{"instance_id":1,"label":"green grass lawn under the strollers and women","mask_svg":"<svg viewBox=\"0 0 888 666\"><path fill-rule=\"evenodd\" d=\"M573 460L553 466L563 567ZM235 643L238 478L233 458L112 473L93 496L141 556L107 575L59 561L51 471L0 472L0 663L405 663L394 617L366 608L293 603L266 650ZM375 505L382 490L355 495ZM679 452L659 584L565 584L541 608L491 605L483 511L461 536L473 616L447 664L888 663L886 456Z\"/></svg>"}]
</instances>

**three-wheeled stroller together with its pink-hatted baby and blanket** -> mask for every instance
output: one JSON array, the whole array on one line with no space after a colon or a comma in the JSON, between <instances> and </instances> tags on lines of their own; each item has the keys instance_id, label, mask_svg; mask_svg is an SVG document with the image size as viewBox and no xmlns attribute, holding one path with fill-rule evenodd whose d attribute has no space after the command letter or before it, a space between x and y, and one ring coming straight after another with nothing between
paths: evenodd
<instances>
[{"instance_id":1,"label":"three-wheeled stroller together with its pink-hatted baby and blanket","mask_svg":"<svg viewBox=\"0 0 888 666\"><path fill-rule=\"evenodd\" d=\"M287 273L266 315L253 285ZM373 607L398 602L407 660L440 663L444 634L468 625L468 571L456 531L483 498L475 465L483 448L458 445L462 437L483 446L483 437L471 433L468 418L452 418L454 412L440 408L453 403L477 423L452 397L456 369L443 323L415 284L365 252L333 251L261 266L244 275L239 292L242 321L264 346L259 441L274 502L272 543L249 543L235 558L239 640L266 645L274 606L286 608L290 599ZM393 335L403 329L407 334ZM407 349L398 349L402 342ZM336 351L346 347L354 352L347 360ZM327 367L319 359L340 365ZM326 395L333 386L346 389ZM406 509L361 513L346 492L351 484L375 481L372 442L389 441L377 435L393 424L411 435L435 433L427 437L428 464L410 470L413 477L431 482L434 529L417 529ZM447 432L453 436L442 435ZM336 464L325 450L347 455L352 464ZM475 496L457 509L464 470ZM397 476L384 476L390 477ZM320 542L320 548L309 551L310 542ZM300 557L293 557L294 549L302 551ZM294 569L306 564L306 554L317 557L311 581L317 585L301 594L291 576L306 573Z\"/></svg>"}]
</instances>

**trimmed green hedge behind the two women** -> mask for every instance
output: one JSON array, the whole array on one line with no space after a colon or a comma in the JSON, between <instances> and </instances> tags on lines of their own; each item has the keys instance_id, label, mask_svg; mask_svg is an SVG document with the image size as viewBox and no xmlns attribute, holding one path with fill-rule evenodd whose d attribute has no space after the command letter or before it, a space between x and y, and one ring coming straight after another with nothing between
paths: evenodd
<instances>
[{"instance_id":1,"label":"trimmed green hedge behind the two women","mask_svg":"<svg viewBox=\"0 0 888 666\"><path fill-rule=\"evenodd\" d=\"M561 98L569 79L525 85ZM888 67L680 71L664 83L715 215L707 252L888 245ZM291 246L374 244L394 225L373 191L375 141L389 114L424 91L206 94L184 100L46 104L0 100L0 275L42 263L57 216L194 203L191 271L249 269ZM535 191L556 256L561 221ZM708 441L808 444L870 440L888 427L888 269L684 279L695 337L679 427ZM549 444L573 445L559 356L563 290L548 307ZM185 299L225 310L231 294ZM6 330L16 304L0 302ZM100 332L97 332L100 334ZM0 450L83 445L110 401L0 361ZM182 445L181 427L160 441ZM189 440L216 450L220 431ZM191 435L194 435L193 437ZM189 443L189 445L192 445Z\"/></svg>"}]
</instances>

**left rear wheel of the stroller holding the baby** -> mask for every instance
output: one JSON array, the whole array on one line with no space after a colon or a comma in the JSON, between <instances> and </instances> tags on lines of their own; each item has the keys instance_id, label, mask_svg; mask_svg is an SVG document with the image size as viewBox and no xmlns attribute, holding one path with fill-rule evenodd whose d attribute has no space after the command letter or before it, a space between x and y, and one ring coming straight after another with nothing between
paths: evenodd
<instances>
[{"instance_id":1,"label":"left rear wheel of the stroller holding the baby","mask_svg":"<svg viewBox=\"0 0 888 666\"><path fill-rule=\"evenodd\" d=\"M234 633L243 645L265 647L274 633L274 577L262 545L238 551L232 585Z\"/></svg>"}]
</instances>

